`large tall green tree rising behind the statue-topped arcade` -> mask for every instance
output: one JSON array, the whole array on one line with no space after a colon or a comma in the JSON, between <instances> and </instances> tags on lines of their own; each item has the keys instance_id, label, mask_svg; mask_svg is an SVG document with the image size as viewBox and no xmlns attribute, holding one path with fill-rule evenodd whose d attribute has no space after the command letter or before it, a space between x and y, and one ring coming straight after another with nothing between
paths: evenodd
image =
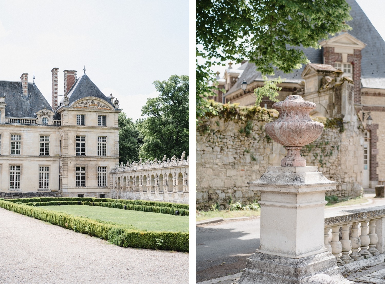
<instances>
[{"instance_id":1,"label":"large tall green tree rising behind the statue-topped arcade","mask_svg":"<svg viewBox=\"0 0 385 284\"><path fill-rule=\"evenodd\" d=\"M189 155L189 76L172 75L167 81L154 81L158 97L147 99L138 124L144 144L140 158L162 159L163 155Z\"/></svg>"}]
</instances>

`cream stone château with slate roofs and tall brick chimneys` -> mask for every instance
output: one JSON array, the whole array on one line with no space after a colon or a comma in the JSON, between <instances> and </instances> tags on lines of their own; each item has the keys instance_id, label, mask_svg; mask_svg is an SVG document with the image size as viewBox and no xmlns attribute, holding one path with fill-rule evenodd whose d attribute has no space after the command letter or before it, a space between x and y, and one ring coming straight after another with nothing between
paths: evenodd
<instances>
[{"instance_id":1,"label":"cream stone ch\u00e2teau with slate roofs and tall brick chimneys","mask_svg":"<svg viewBox=\"0 0 385 284\"><path fill-rule=\"evenodd\" d=\"M119 165L119 102L84 74L65 70L58 101L52 69L52 106L23 73L0 81L0 197L105 197Z\"/></svg>"}]
</instances>

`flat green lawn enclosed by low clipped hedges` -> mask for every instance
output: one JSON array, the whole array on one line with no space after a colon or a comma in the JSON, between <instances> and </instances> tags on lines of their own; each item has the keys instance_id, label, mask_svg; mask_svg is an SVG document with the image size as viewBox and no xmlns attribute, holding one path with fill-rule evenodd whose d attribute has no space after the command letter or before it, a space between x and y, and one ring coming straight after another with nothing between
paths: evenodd
<instances>
[{"instance_id":1,"label":"flat green lawn enclosed by low clipped hedges","mask_svg":"<svg viewBox=\"0 0 385 284\"><path fill-rule=\"evenodd\" d=\"M87 205L44 206L42 209L64 212L95 220L132 225L139 230L156 232L188 232L189 217L170 214L123 210Z\"/></svg>"}]
</instances>

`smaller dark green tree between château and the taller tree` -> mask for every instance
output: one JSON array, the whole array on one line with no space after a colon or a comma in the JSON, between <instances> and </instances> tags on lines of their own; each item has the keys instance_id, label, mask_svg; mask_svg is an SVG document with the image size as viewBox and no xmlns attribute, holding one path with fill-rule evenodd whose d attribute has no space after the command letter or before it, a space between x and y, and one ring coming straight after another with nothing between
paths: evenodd
<instances>
[{"instance_id":1,"label":"smaller dark green tree between ch\u00e2teau and the taller tree","mask_svg":"<svg viewBox=\"0 0 385 284\"><path fill-rule=\"evenodd\" d=\"M132 118L127 118L123 111L118 116L119 125L119 162L127 163L129 161L139 160L139 151L142 145L142 139L139 137L139 130Z\"/></svg>"}]
</instances>

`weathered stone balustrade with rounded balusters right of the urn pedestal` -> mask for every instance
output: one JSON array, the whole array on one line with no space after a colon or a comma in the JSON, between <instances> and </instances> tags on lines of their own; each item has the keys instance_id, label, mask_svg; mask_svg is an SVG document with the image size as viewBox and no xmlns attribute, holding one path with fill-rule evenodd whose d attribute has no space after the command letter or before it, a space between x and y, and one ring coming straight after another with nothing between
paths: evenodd
<instances>
[{"instance_id":1,"label":"weathered stone balustrade with rounded balusters right of the urn pedestal","mask_svg":"<svg viewBox=\"0 0 385 284\"><path fill-rule=\"evenodd\" d=\"M385 206L325 213L325 246L338 266L383 254Z\"/></svg>"}]
</instances>

